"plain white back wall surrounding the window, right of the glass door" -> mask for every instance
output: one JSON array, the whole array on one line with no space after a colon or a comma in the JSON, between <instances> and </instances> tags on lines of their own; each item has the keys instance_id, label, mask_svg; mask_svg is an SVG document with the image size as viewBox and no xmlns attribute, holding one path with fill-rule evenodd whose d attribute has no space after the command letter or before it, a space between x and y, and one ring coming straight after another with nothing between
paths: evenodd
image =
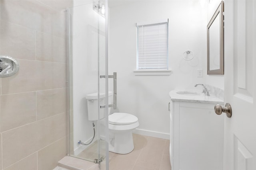
<instances>
[{"instance_id":1,"label":"plain white back wall surrounding the window, right of the glass door","mask_svg":"<svg viewBox=\"0 0 256 170\"><path fill-rule=\"evenodd\" d=\"M142 0L119 1L118 4L122 2L124 5L121 6L110 2L109 23L109 72L117 72L118 75L118 108L120 112L138 117L138 129L158 132L162 134L160 137L168 137L166 134L170 129L170 90L194 89L194 84L205 82L206 11L198 1ZM167 18L171 75L135 76L133 71L136 70L136 22ZM195 54L191 61L182 59L182 54L187 50ZM197 77L198 68L204 69L203 78Z\"/></svg>"}]
</instances>

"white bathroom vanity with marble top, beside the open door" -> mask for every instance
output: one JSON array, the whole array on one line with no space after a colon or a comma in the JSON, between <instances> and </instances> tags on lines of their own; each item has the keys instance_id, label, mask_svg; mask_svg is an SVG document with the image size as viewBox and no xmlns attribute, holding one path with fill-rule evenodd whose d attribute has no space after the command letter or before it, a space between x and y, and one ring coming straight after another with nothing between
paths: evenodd
<instances>
[{"instance_id":1,"label":"white bathroom vanity with marble top, beside the open door","mask_svg":"<svg viewBox=\"0 0 256 170\"><path fill-rule=\"evenodd\" d=\"M198 91L172 90L170 161L172 170L223 170L224 101Z\"/></svg>"}]
</instances>

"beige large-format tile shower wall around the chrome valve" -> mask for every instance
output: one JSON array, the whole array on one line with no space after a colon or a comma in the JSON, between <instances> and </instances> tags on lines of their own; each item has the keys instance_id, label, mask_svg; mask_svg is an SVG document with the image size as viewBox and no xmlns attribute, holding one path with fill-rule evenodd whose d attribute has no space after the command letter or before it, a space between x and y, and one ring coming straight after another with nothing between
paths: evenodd
<instances>
[{"instance_id":1,"label":"beige large-format tile shower wall around the chrome valve","mask_svg":"<svg viewBox=\"0 0 256 170\"><path fill-rule=\"evenodd\" d=\"M72 0L1 0L0 170L52 170L67 153L66 18Z\"/></svg>"}]
</instances>

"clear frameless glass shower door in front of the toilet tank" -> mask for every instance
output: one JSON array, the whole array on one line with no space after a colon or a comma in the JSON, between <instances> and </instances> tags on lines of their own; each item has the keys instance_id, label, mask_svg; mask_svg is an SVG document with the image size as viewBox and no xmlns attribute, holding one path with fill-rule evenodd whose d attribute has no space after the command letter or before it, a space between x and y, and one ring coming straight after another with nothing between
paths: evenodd
<instances>
[{"instance_id":1,"label":"clear frameless glass shower door in front of the toilet tank","mask_svg":"<svg viewBox=\"0 0 256 170\"><path fill-rule=\"evenodd\" d=\"M106 1L76 1L68 9L70 156L108 166ZM107 160L107 161L106 161Z\"/></svg>"}]
</instances>

